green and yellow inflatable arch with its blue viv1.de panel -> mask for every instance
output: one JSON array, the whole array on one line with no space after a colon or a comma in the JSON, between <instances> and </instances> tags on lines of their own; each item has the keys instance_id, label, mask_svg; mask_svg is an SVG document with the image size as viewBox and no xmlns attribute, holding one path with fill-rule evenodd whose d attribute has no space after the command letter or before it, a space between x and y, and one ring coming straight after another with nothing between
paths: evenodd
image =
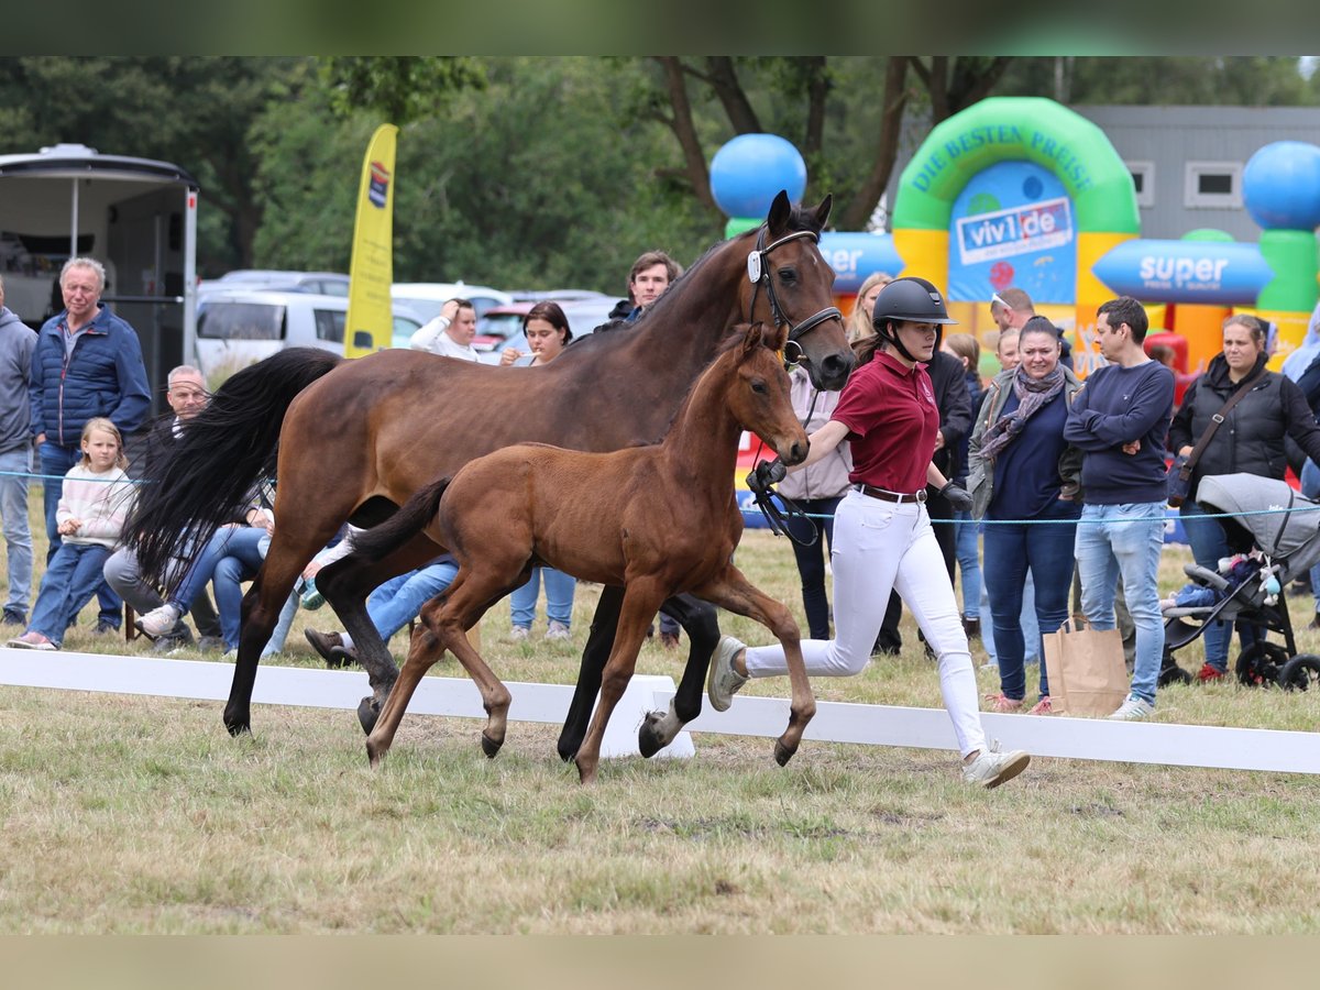
<instances>
[{"instance_id":1,"label":"green and yellow inflatable arch with its blue viv1.de panel","mask_svg":"<svg viewBox=\"0 0 1320 990\"><path fill-rule=\"evenodd\" d=\"M903 273L944 285L973 330L991 296L1016 286L1085 337L1114 296L1092 267L1139 231L1131 174L1105 132L1043 98L997 96L940 123L894 202Z\"/></svg>"}]
</instances>

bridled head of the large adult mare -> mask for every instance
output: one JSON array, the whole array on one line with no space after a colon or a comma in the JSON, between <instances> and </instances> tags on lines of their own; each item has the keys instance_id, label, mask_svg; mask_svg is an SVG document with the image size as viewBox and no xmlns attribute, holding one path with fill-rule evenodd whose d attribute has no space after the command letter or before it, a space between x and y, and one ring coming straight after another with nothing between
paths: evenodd
<instances>
[{"instance_id":1,"label":"bridled head of the large adult mare","mask_svg":"<svg viewBox=\"0 0 1320 990\"><path fill-rule=\"evenodd\" d=\"M834 269L816 246L832 202L826 195L814 210L795 209L780 190L747 255L743 312L750 322L783 326L789 360L804 364L817 388L837 391L855 358L834 306Z\"/></svg>"}]
</instances>

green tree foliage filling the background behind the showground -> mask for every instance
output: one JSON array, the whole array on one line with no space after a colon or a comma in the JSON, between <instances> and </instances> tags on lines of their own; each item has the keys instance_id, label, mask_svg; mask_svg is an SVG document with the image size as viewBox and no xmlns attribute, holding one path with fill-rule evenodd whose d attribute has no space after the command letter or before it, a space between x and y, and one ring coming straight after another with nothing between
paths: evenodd
<instances>
[{"instance_id":1,"label":"green tree foliage filling the background behind the showground","mask_svg":"<svg viewBox=\"0 0 1320 990\"><path fill-rule=\"evenodd\" d=\"M862 230L900 145L986 95L1316 106L1275 57L5 57L13 152L59 141L174 161L202 186L198 267L347 271L362 154L401 127L403 280L622 289L632 257L690 261L723 228L708 162L783 135L805 198Z\"/></svg>"}]
</instances>

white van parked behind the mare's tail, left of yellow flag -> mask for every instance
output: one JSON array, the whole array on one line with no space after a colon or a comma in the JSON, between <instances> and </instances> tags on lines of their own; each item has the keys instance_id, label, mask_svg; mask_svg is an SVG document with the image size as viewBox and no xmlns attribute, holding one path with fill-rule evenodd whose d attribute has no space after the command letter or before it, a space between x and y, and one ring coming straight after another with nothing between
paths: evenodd
<instances>
[{"instance_id":1,"label":"white van parked behind the mare's tail, left of yellow flag","mask_svg":"<svg viewBox=\"0 0 1320 990\"><path fill-rule=\"evenodd\" d=\"M207 294L197 308L197 366L209 388L239 368L285 347L321 347L343 354L348 300L305 292L234 290ZM422 319L393 306L393 347L407 347Z\"/></svg>"}]
</instances>

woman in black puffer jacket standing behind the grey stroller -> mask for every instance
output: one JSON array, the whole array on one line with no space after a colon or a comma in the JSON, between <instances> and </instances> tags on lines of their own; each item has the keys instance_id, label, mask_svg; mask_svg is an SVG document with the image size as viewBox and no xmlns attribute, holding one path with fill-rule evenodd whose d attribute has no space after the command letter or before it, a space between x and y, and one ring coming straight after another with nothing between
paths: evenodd
<instances>
[{"instance_id":1,"label":"woman in black puffer jacket standing behind the grey stroller","mask_svg":"<svg viewBox=\"0 0 1320 990\"><path fill-rule=\"evenodd\" d=\"M1291 379L1265 371L1265 325L1251 315L1232 315L1224 322L1224 350L1210 359L1210 366L1183 396L1183 407L1173 416L1168 430L1170 447L1188 455L1209 428L1213 417L1242 385L1250 392L1229 411L1192 471L1189 498L1183 503L1183 528L1192 545L1196 562L1212 570L1218 560L1230 554L1228 536L1217 519L1205 519L1195 502L1201 478L1212 474L1258 474L1282 479L1288 469L1287 441L1291 438L1311 458L1320 454L1320 426L1302 389ZM1302 459L1294 455L1300 470ZM1205 631L1205 665L1203 681L1222 677L1228 671L1230 631L1213 623ZM1238 626L1238 638L1246 648L1259 636L1255 627Z\"/></svg>"}]
</instances>

